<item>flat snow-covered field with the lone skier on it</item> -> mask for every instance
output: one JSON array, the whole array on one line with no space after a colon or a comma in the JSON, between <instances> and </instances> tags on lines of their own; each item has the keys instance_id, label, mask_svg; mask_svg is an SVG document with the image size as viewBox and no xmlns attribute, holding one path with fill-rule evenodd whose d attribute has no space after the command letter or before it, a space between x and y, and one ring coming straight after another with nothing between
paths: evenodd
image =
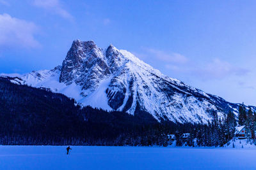
<instances>
[{"instance_id":1,"label":"flat snow-covered field with the lone skier on it","mask_svg":"<svg viewBox=\"0 0 256 170\"><path fill-rule=\"evenodd\" d=\"M256 169L248 148L0 146L0 169Z\"/></svg>"}]
</instances>

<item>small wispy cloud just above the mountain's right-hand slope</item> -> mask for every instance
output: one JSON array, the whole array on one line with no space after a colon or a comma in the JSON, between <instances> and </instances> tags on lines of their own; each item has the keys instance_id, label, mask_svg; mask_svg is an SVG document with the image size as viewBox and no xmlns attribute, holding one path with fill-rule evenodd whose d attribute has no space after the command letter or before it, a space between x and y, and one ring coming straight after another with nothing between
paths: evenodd
<instances>
[{"instance_id":1,"label":"small wispy cloud just above the mountain's right-hand slope","mask_svg":"<svg viewBox=\"0 0 256 170\"><path fill-rule=\"evenodd\" d=\"M175 62L175 63L186 63L188 58L180 53L166 53L161 50L156 50L154 48L145 48L145 50L152 55L154 55L158 60L164 62Z\"/></svg>"}]
</instances>

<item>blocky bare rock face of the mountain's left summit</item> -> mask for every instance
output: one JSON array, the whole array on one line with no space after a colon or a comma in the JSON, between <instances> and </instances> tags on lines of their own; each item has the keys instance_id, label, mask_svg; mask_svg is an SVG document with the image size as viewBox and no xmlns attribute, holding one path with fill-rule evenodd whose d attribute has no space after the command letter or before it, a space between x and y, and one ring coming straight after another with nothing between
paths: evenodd
<instances>
[{"instance_id":1,"label":"blocky bare rock face of the mountain's left summit","mask_svg":"<svg viewBox=\"0 0 256 170\"><path fill-rule=\"evenodd\" d=\"M60 82L66 85L76 83L83 90L95 89L99 81L109 74L109 67L104 60L102 49L93 41L76 40L63 60ZM84 93L84 96L86 95Z\"/></svg>"}]
</instances>

